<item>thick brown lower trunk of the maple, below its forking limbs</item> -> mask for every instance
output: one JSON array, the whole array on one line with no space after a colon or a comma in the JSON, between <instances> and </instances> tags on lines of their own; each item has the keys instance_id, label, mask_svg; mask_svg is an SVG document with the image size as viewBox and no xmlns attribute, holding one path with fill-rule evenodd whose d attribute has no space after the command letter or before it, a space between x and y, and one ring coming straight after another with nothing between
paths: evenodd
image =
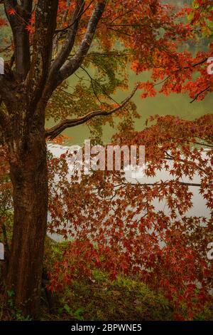
<instances>
[{"instance_id":1,"label":"thick brown lower trunk of the maple, below its forking limbs","mask_svg":"<svg viewBox=\"0 0 213 335\"><path fill-rule=\"evenodd\" d=\"M15 294L15 306L36 318L48 215L48 172L44 128L35 129L10 163L14 220L6 287Z\"/></svg>"}]
</instances>

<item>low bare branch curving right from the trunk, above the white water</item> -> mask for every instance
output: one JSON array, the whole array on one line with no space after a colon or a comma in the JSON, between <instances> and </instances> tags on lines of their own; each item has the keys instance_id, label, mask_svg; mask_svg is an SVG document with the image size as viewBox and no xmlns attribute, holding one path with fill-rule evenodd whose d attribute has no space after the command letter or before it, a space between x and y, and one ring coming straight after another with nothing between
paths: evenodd
<instances>
[{"instance_id":1,"label":"low bare branch curving right from the trunk, above the white water","mask_svg":"<svg viewBox=\"0 0 213 335\"><path fill-rule=\"evenodd\" d=\"M72 127L75 127L76 125L82 125L83 123L86 123L87 121L91 120L95 116L108 116L113 113L116 113L116 111L121 110L121 108L123 108L126 105L126 103L128 103L129 100L131 100L131 98L135 95L137 89L138 89L138 86L136 86L136 88L133 89L131 95L127 97L116 108L113 108L108 111L107 110L94 110L93 112L87 113L86 115L81 116L80 118L62 120L60 123L58 123L58 125L55 125L53 128L46 130L46 138L48 138L49 140L53 140L58 135L60 135L60 133L62 133L62 131L65 130L66 128L72 128Z\"/></svg>"}]
</instances>

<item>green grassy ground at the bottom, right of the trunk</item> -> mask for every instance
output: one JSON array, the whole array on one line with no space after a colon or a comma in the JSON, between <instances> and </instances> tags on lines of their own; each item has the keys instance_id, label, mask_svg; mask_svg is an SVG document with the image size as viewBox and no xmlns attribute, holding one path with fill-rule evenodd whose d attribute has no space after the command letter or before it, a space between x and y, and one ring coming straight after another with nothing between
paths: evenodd
<instances>
[{"instance_id":1,"label":"green grassy ground at the bottom, right of the trunk","mask_svg":"<svg viewBox=\"0 0 213 335\"><path fill-rule=\"evenodd\" d=\"M54 313L43 309L43 320L172 320L173 309L161 294L133 279L111 281L96 271L92 280L74 281L58 294Z\"/></svg>"}]
</instances>

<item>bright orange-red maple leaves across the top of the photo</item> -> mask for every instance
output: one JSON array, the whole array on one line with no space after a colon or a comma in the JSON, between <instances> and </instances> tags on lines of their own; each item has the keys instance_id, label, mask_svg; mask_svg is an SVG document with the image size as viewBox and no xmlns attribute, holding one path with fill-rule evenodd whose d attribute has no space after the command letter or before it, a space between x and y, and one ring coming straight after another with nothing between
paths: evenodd
<instances>
[{"instance_id":1,"label":"bright orange-red maple leaves across the top of the photo","mask_svg":"<svg viewBox=\"0 0 213 335\"><path fill-rule=\"evenodd\" d=\"M76 3L77 1L59 1L56 51L59 50L67 29L72 26L70 17L75 13ZM86 30L95 3L96 1L84 1L84 7L82 5L79 8L82 21L78 26L76 43L80 42ZM8 14L23 21L13 8L8 10ZM3 21L2 25L5 24L6 21ZM25 24L33 39L35 11L32 11L31 18ZM141 93L142 98L155 96L158 84L162 82L160 93L189 93L192 100L202 100L212 91L213 79L207 74L206 62L212 56L213 45L209 43L208 51L198 51L196 54L179 51L182 43L190 42L193 45L199 35L208 38L212 36L211 1L195 0L191 8L185 6L178 12L174 6L158 0L137 1L137 6L134 1L109 1L97 27L94 47L113 53L116 51L114 43L119 40L124 47L121 50L126 51L125 60L131 63L133 71L151 71L151 80L141 83L140 87L144 91ZM7 53L9 48L12 49L13 46L6 48ZM91 53L85 64L92 61L93 66L99 68L94 56ZM195 78L194 73L200 75ZM122 86L126 86L124 82L120 83L120 87ZM116 86L118 87L119 85Z\"/></svg>"}]
</instances>

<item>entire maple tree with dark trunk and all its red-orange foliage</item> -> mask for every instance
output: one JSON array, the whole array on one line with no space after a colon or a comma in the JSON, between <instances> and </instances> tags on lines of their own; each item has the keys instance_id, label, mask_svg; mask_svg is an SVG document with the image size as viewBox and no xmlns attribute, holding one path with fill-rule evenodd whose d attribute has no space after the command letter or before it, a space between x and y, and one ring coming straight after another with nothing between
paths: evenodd
<instances>
[{"instance_id":1,"label":"entire maple tree with dark trunk and all its red-orange foliage","mask_svg":"<svg viewBox=\"0 0 213 335\"><path fill-rule=\"evenodd\" d=\"M9 260L15 304L22 308L27 301L26 314L29 309L37 317L49 215L48 233L71 239L48 269L50 292L73 279L93 280L100 269L111 279L124 274L145 282L171 301L175 319L193 319L212 301L212 115L193 121L153 115L136 132L136 105L129 99L120 108L114 95L129 90L129 68L150 75L136 83L141 98L187 93L196 102L211 93L212 1L195 0L178 11L160 0L38 0L23 1L24 8L20 1L5 2L0 26L11 31L0 50L6 60L0 78L0 201L4 195L11 201L9 162L16 191ZM202 37L204 51L191 51ZM102 125L114 126L111 109L119 117L111 144L146 146L145 180L116 171L71 175L69 153L46 158L45 141L75 125L86 123L97 143ZM95 117L84 118L94 110ZM58 124L45 129L45 118ZM205 202L200 215L190 212L194 190ZM17 250L23 257L18 261Z\"/></svg>"}]
</instances>

